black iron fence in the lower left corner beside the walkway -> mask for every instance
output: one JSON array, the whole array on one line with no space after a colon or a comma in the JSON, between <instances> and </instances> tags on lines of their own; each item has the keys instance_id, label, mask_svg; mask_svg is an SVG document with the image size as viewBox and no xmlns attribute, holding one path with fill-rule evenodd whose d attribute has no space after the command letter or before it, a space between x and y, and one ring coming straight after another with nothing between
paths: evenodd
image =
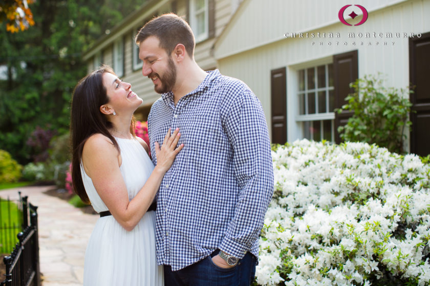
<instances>
[{"instance_id":1,"label":"black iron fence in the lower left corner beside the walkway","mask_svg":"<svg viewBox=\"0 0 430 286\"><path fill-rule=\"evenodd\" d=\"M20 199L22 205L22 231L17 235L12 253L3 261L6 265L6 279L0 286L40 286L39 235L37 228L37 206ZM30 218L30 224L29 224Z\"/></svg>"}]
</instances>

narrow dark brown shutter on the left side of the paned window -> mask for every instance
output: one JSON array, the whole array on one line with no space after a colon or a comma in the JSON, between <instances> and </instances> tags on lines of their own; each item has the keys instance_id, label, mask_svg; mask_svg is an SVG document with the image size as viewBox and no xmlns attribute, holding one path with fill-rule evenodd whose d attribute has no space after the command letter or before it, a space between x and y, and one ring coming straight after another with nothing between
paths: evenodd
<instances>
[{"instance_id":1,"label":"narrow dark brown shutter on the left side of the paned window","mask_svg":"<svg viewBox=\"0 0 430 286\"><path fill-rule=\"evenodd\" d=\"M272 143L287 142L287 78L286 69L273 69L270 73L272 100Z\"/></svg>"}]
</instances>

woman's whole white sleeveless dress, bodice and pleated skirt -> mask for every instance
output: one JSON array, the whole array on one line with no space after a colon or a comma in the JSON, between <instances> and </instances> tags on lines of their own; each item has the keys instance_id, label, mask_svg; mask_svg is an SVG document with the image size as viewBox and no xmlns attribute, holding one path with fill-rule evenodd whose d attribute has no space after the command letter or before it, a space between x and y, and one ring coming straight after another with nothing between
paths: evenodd
<instances>
[{"instance_id":1,"label":"woman's whole white sleeveless dress, bodice and pleated skirt","mask_svg":"<svg viewBox=\"0 0 430 286\"><path fill-rule=\"evenodd\" d=\"M121 150L120 171L132 200L154 165L137 139L115 138ZM81 164L83 185L97 212L108 210ZM99 218L85 251L84 286L162 286L163 267L155 252L155 211L148 211L132 231L113 216Z\"/></svg>"}]
</instances>

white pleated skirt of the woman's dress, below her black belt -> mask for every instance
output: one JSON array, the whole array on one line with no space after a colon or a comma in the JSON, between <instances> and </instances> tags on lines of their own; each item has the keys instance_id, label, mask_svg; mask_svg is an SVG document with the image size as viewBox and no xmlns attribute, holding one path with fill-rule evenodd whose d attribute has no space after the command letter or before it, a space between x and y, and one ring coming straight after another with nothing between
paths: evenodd
<instances>
[{"instance_id":1,"label":"white pleated skirt of the woman's dress, below her black belt","mask_svg":"<svg viewBox=\"0 0 430 286\"><path fill-rule=\"evenodd\" d=\"M163 267L155 252L155 212L132 231L107 216L98 219L85 251L84 286L162 286Z\"/></svg>"}]
</instances>

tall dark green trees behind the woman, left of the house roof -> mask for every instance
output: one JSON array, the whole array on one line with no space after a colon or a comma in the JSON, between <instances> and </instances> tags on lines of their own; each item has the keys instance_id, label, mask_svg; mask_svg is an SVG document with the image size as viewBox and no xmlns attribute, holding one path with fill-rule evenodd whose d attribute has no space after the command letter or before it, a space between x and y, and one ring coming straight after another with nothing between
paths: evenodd
<instances>
[{"instance_id":1,"label":"tall dark green trees behind the woman, left of the house roof","mask_svg":"<svg viewBox=\"0 0 430 286\"><path fill-rule=\"evenodd\" d=\"M0 25L0 149L21 164L36 155L26 145L36 126L69 130L74 86L87 74L81 54L141 0L36 1L35 25L11 34Z\"/></svg>"}]
</instances>

